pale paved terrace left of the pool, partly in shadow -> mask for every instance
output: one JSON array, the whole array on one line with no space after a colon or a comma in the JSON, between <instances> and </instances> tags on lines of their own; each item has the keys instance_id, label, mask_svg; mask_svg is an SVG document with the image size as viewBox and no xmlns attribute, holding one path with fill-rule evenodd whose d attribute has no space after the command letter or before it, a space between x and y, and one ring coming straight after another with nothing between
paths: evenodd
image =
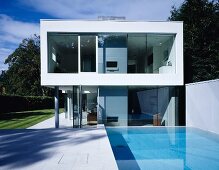
<instances>
[{"instance_id":1,"label":"pale paved terrace left of the pool, partly in shadow","mask_svg":"<svg viewBox=\"0 0 219 170\"><path fill-rule=\"evenodd\" d=\"M44 126L40 128L40 124ZM55 129L50 127L54 118L40 124L0 130L1 170L118 169L103 125Z\"/></svg>"}]
</instances>

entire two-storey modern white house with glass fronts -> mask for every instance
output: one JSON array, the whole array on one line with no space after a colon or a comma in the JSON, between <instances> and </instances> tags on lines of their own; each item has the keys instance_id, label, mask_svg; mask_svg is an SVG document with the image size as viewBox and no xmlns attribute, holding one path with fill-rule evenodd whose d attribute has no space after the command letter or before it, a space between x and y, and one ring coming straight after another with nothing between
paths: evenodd
<instances>
[{"instance_id":1,"label":"entire two-storey modern white house with glass fronts","mask_svg":"<svg viewBox=\"0 0 219 170\"><path fill-rule=\"evenodd\" d=\"M183 23L41 20L41 85L73 125L179 125Z\"/></svg>"}]
</instances>

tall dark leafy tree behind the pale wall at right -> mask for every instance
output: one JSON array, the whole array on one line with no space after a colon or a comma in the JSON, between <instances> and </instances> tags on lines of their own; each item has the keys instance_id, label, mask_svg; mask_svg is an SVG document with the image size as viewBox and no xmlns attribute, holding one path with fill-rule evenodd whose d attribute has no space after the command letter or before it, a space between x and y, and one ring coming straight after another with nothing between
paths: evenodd
<instances>
[{"instance_id":1,"label":"tall dark leafy tree behind the pale wall at right","mask_svg":"<svg viewBox=\"0 0 219 170\"><path fill-rule=\"evenodd\" d=\"M184 23L185 83L219 78L218 0L185 0L169 20Z\"/></svg>"}]
</instances>

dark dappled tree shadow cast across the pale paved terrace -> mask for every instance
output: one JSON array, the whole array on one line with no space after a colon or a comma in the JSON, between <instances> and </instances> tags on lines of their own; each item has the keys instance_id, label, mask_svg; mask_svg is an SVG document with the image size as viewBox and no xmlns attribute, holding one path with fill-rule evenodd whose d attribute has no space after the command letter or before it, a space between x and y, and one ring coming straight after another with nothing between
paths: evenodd
<instances>
[{"instance_id":1,"label":"dark dappled tree shadow cast across the pale paved terrace","mask_svg":"<svg viewBox=\"0 0 219 170\"><path fill-rule=\"evenodd\" d=\"M68 149L105 137L95 131L95 128L0 130L0 169L26 167L50 159L60 147Z\"/></svg>"}]
</instances>

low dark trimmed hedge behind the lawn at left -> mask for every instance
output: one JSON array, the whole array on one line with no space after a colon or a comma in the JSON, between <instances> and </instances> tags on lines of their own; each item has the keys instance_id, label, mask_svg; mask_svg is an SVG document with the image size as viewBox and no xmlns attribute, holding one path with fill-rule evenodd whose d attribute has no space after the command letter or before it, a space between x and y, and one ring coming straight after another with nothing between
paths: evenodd
<instances>
[{"instance_id":1,"label":"low dark trimmed hedge behind the lawn at left","mask_svg":"<svg viewBox=\"0 0 219 170\"><path fill-rule=\"evenodd\" d=\"M60 107L62 107L62 103L63 102L60 101ZM0 113L52 108L54 108L53 97L0 95Z\"/></svg>"}]
</instances>

